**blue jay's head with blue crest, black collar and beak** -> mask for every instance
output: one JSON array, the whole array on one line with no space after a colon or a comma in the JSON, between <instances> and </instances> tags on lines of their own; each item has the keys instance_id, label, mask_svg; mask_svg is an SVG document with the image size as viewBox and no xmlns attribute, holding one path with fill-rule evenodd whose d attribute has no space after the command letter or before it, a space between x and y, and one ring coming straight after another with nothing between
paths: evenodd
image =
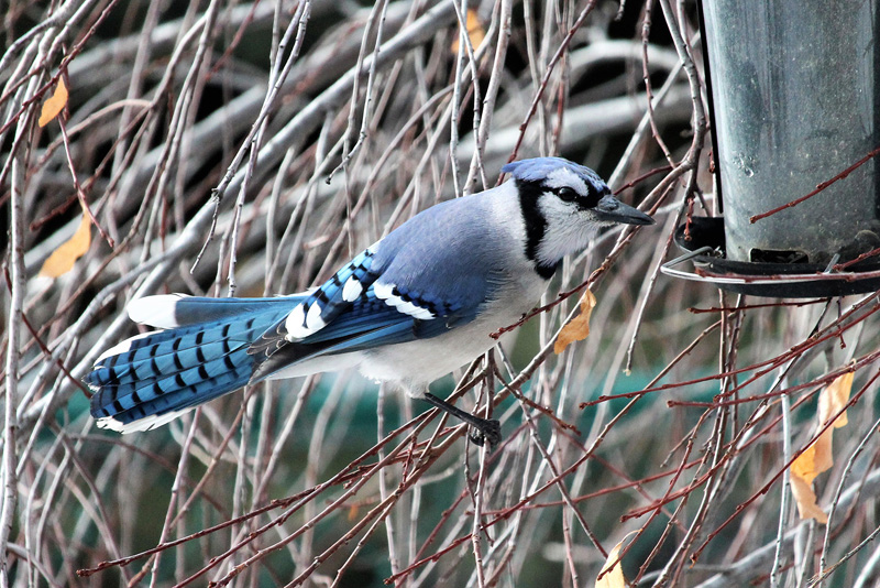
<instances>
[{"instance_id":1,"label":"blue jay's head with blue crest, black collar and beak","mask_svg":"<svg viewBox=\"0 0 880 588\"><path fill-rule=\"evenodd\" d=\"M526 255L538 272L552 274L562 258L583 250L612 225L652 225L653 219L614 196L590 167L561 157L508 163L526 224Z\"/></svg>"}]
</instances>

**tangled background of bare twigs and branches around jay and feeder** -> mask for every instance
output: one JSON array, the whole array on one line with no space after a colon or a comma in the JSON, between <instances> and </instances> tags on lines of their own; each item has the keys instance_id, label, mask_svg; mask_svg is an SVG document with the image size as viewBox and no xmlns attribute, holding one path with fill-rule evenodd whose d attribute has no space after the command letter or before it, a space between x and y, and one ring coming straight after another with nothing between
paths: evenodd
<instances>
[{"instance_id":1,"label":"tangled background of bare twigs and branches around jay and feeder","mask_svg":"<svg viewBox=\"0 0 880 588\"><path fill-rule=\"evenodd\" d=\"M625 537L640 586L873 585L880 301L660 273L675 227L719 211L694 2L3 10L2 585L593 586ZM458 401L495 394L494 450L348 372L95 427L80 378L143 329L132 297L305 290L507 161L557 154L657 225L558 272L544 303L587 281L597 298L584 341L553 352L580 291L502 337L501 377ZM814 481L826 525L801 519L789 466L847 370Z\"/></svg>"}]
</instances>

